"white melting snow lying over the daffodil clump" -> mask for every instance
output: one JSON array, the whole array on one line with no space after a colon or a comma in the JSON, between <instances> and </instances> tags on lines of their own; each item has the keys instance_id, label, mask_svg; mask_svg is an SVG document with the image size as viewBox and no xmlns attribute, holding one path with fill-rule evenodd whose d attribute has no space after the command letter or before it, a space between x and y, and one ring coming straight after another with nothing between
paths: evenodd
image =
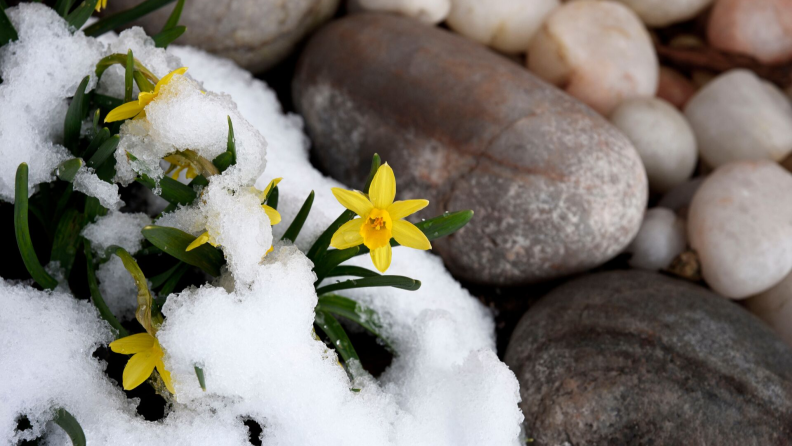
<instances>
[{"instance_id":1,"label":"white melting snow lying over the daffodil clump","mask_svg":"<svg viewBox=\"0 0 792 446\"><path fill-rule=\"evenodd\" d=\"M341 293L381 316L383 332L398 352L381 377L353 363L350 382L335 352L316 337L315 275L301 250L342 211L330 193L339 183L310 165L300 118L285 115L263 82L198 50L154 48L137 29L97 41L80 33L72 37L41 5L10 8L8 13L21 41L12 44L16 53L8 50L11 45L0 50L0 147L33 141L17 145L19 154L14 156L35 161L34 184L51 180L47 169L53 160L68 157L62 147L48 145L59 137L55 130L62 128L65 99L99 58L128 47L158 76L180 66L189 71L162 89L145 119L122 125L118 182L128 183L135 172L161 177L161 158L177 150L189 148L207 159L221 153L227 116L234 123L238 163L210 177L193 205L155 222L193 235L208 231L228 261L215 283L171 294L162 309L165 322L157 336L176 387L165 418L143 420L135 411L137 401L127 399L120 385L104 374L105 364L93 353L112 334L90 303L67 292L42 292L0 280L0 443L44 432L50 441L67 441L47 424L54 408L64 407L79 420L91 444L242 445L248 444L242 424L248 418L264 426L261 440L268 446L519 444L523 416L518 383L494 353L492 315L432 254L394 250L388 273L421 280L418 291ZM59 56L68 45L81 57L67 63ZM33 76L32 65L49 59L58 70L48 71L52 79L42 87L44 93L22 102L20 91L35 89L28 80L7 73ZM62 63L74 66L59 71ZM117 94L121 79L118 70L108 70L100 91ZM32 128L46 124L55 130L34 135L5 112L7 100L27 107L15 113L38 119ZM45 110L47 116L42 115ZM129 163L127 151L138 162ZM14 162L16 158L5 164L15 168ZM13 182L6 184L9 175L0 168L0 196L5 199L13 192ZM284 177L279 186L284 221L271 227L258 191L275 177ZM84 188L112 201L90 185ZM316 192L314 206L296 245L279 242L311 190ZM141 246L139 230L148 223L143 214L111 211L83 234L98 253L112 244L133 253ZM273 244L274 251L267 254ZM367 256L353 263L371 266ZM111 310L129 317L135 291L120 261L111 256L97 275ZM196 365L204 370L206 391L198 385ZM16 431L20 415L30 419L32 430Z\"/></svg>"}]
</instances>

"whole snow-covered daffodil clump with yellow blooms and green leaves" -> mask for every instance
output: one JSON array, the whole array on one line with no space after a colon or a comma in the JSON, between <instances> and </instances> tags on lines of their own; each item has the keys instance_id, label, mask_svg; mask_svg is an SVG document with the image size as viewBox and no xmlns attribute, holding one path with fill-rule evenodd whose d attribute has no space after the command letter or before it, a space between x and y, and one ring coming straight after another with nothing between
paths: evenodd
<instances>
[{"instance_id":1,"label":"whole snow-covered daffodil clump with yellow blooms and green leaves","mask_svg":"<svg viewBox=\"0 0 792 446\"><path fill-rule=\"evenodd\" d=\"M428 202L395 201L377 155L360 191L322 177L263 84L165 50L184 0L153 39L107 33L168 0L83 28L106 1L0 0L0 198L29 274L0 279L0 441L57 443L52 421L74 444L244 444L249 421L265 444L515 444L491 316L419 252L473 212L404 220ZM380 378L363 332L393 355Z\"/></svg>"}]
</instances>

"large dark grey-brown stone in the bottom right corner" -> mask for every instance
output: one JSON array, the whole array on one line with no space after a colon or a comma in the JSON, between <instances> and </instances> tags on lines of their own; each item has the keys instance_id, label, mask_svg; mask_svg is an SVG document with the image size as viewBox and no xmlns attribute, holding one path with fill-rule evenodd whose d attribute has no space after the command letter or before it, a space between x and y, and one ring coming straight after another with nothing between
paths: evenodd
<instances>
[{"instance_id":1,"label":"large dark grey-brown stone in the bottom right corner","mask_svg":"<svg viewBox=\"0 0 792 446\"><path fill-rule=\"evenodd\" d=\"M567 283L514 331L531 444L792 444L792 350L740 306L657 273Z\"/></svg>"}]
</instances>

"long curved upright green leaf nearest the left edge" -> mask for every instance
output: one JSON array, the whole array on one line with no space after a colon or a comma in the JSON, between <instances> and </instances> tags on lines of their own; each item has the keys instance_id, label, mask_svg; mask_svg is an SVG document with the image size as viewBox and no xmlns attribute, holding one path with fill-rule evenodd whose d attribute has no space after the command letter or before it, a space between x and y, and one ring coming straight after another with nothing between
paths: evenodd
<instances>
[{"instance_id":1,"label":"long curved upright green leaf nearest the left edge","mask_svg":"<svg viewBox=\"0 0 792 446\"><path fill-rule=\"evenodd\" d=\"M42 288L54 289L58 281L47 274L39 263L36 251L33 250L33 241L30 239L28 227L28 165L22 163L17 168L16 189L14 191L14 232L17 239L19 253L33 280Z\"/></svg>"}]
</instances>

